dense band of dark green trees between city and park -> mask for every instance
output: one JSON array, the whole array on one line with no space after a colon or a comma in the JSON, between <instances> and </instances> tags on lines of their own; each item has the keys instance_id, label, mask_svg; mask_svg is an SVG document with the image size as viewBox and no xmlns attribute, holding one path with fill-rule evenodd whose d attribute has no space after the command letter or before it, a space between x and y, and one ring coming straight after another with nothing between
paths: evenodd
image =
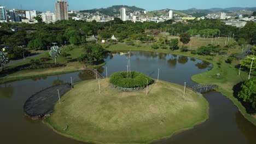
<instances>
[{"instance_id":1,"label":"dense band of dark green trees between city and park","mask_svg":"<svg viewBox=\"0 0 256 144\"><path fill-rule=\"evenodd\" d=\"M119 41L140 40L142 43L154 41L154 35L160 32L170 34L188 33L189 35L200 35L201 37L226 37L234 34L238 39L245 39L245 43L255 43L256 23L248 22L244 28L236 28L225 25L220 20L189 20L185 23L173 23L172 20L165 22L131 22L115 18L108 22L85 22L64 20L55 23L1 23L1 44L8 46L8 57L21 57L28 49L47 50L52 43L59 45L79 45L86 41L91 35L97 35L99 40L109 39L115 35ZM11 28L19 28L18 32ZM166 44L166 38L159 39L160 44ZM185 44L185 43L184 43Z\"/></svg>"}]
</instances>

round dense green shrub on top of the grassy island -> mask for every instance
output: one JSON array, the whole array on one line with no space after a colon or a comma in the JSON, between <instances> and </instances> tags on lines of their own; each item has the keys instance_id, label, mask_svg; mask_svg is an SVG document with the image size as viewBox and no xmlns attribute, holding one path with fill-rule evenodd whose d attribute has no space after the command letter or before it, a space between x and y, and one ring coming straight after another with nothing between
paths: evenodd
<instances>
[{"instance_id":1,"label":"round dense green shrub on top of the grassy island","mask_svg":"<svg viewBox=\"0 0 256 144\"><path fill-rule=\"evenodd\" d=\"M137 71L131 71L131 76L127 77L127 72L117 72L110 76L110 83L114 86L123 87L123 88L135 88L135 87L146 87L153 83L153 80L150 77L143 75Z\"/></svg>"}]
</instances>

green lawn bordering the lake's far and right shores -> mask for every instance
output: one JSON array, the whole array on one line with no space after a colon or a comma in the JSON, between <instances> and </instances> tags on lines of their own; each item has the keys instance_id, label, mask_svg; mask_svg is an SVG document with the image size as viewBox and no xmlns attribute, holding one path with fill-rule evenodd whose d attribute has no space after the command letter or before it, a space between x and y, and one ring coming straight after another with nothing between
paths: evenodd
<instances>
[{"instance_id":1,"label":"green lawn bordering the lake's far and right shores","mask_svg":"<svg viewBox=\"0 0 256 144\"><path fill-rule=\"evenodd\" d=\"M206 73L197 74L194 75L192 78L193 81L197 83L213 83L219 85L219 88L217 91L221 92L223 95L228 97L232 103L234 103L243 116L245 116L249 121L251 121L254 125L256 125L256 115L249 115L246 112L245 107L241 104L240 101L238 101L234 95L232 88L239 82L245 81L248 79L248 71L242 71L241 75L238 75L238 69L235 68L235 65L239 63L239 61L234 61L232 64L225 63L225 59L228 58L228 56L215 56L212 60L208 60L208 56L199 56L199 55L193 55L190 52L181 52L179 50L162 50L157 49L154 50L150 48L148 44L142 45L142 47L136 47L136 46L127 46L124 44L119 45L112 45L108 48L110 51L127 51L127 50L133 50L133 51L155 51L155 52L165 52L165 53L172 53L175 55L183 55L183 56L189 56L194 57L198 59L202 59L204 61L208 61L214 65L213 69L210 71L207 71ZM237 50L230 49L230 51ZM218 65L218 61L222 61L222 64ZM216 74L219 73L220 77L217 78ZM200 76L202 75L202 76Z\"/></svg>"}]
</instances>

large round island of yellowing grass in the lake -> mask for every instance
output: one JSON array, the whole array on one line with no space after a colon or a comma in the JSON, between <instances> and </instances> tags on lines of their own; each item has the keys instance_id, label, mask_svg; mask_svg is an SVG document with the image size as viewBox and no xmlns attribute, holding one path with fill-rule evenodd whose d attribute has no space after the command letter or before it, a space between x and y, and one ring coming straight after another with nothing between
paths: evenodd
<instances>
[{"instance_id":1,"label":"large round island of yellowing grass in the lake","mask_svg":"<svg viewBox=\"0 0 256 144\"><path fill-rule=\"evenodd\" d=\"M57 133L91 143L149 143L193 128L208 118L202 95L159 81L137 92L110 88L109 80L75 83L44 123Z\"/></svg>"}]
</instances>

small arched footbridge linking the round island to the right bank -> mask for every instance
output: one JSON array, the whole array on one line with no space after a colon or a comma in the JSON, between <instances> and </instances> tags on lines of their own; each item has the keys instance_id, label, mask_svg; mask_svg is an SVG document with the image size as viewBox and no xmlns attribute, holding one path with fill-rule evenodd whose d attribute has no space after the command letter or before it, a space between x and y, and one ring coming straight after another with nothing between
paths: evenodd
<instances>
[{"instance_id":1,"label":"small arched footbridge linking the round island to the right bank","mask_svg":"<svg viewBox=\"0 0 256 144\"><path fill-rule=\"evenodd\" d=\"M197 93L205 93L208 91L211 91L215 88L218 88L218 85L214 85L214 84L199 84L199 85L195 85L195 86L187 86L189 89L193 90L194 92Z\"/></svg>"}]
</instances>

